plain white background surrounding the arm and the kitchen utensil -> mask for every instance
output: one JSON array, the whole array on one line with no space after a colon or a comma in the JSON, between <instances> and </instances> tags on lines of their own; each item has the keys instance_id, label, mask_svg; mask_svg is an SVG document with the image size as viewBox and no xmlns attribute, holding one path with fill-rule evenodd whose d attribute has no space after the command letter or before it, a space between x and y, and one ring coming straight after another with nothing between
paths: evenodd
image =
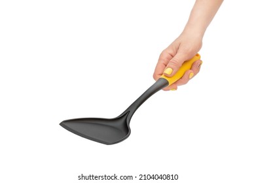
<instances>
[{"instance_id":1,"label":"plain white background surrounding the arm and the kitchen utensil","mask_svg":"<svg viewBox=\"0 0 256 183\"><path fill-rule=\"evenodd\" d=\"M154 83L158 56L193 4L1 1L0 182L81 182L81 173L256 182L253 1L223 3L200 73L146 101L126 141L106 146L59 125L125 110Z\"/></svg>"}]
</instances>

